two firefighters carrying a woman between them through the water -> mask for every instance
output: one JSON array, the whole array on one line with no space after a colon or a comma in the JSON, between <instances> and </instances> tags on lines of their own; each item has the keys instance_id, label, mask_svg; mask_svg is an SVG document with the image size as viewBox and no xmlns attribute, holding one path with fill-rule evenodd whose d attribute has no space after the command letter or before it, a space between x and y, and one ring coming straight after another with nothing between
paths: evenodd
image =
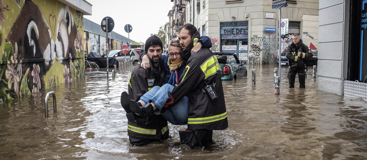
<instances>
[{"instance_id":1,"label":"two firefighters carrying a woman between them through the water","mask_svg":"<svg viewBox=\"0 0 367 160\"><path fill-rule=\"evenodd\" d=\"M210 38L200 37L195 26L184 24L178 39L171 40L167 56L161 55L158 37L149 37L145 45L141 65L131 72L128 93L121 94L130 143L146 145L167 139L168 121L187 124L186 130L179 131L181 144L210 146L213 130L228 127L218 59L210 50Z\"/></svg>"}]
</instances>

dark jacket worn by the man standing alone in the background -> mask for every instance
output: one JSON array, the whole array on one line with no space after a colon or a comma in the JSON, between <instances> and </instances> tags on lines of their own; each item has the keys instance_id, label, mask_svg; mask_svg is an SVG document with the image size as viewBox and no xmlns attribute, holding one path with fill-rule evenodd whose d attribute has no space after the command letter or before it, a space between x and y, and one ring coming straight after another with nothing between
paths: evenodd
<instances>
[{"instance_id":1,"label":"dark jacket worn by the man standing alone in the background","mask_svg":"<svg viewBox=\"0 0 367 160\"><path fill-rule=\"evenodd\" d=\"M311 49L302 42L302 39L298 44L301 45L296 46L292 43L287 47L286 57L288 58L289 68L305 68L307 63L306 58L311 58L313 56ZM301 52L301 57L298 57L298 52Z\"/></svg>"}]
</instances>

